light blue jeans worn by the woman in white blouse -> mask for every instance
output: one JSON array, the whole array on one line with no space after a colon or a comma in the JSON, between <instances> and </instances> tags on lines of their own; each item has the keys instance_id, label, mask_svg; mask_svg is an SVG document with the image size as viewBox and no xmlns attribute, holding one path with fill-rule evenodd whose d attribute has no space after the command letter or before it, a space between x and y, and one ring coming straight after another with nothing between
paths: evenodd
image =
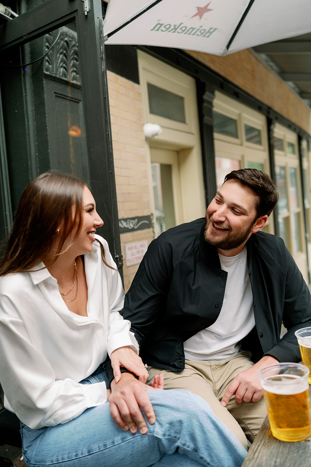
<instances>
[{"instance_id":1,"label":"light blue jeans worn by the woman in white blouse","mask_svg":"<svg viewBox=\"0 0 311 467\"><path fill-rule=\"evenodd\" d=\"M105 381L103 369L83 381ZM246 451L201 397L178 389L149 391L156 414L148 433L124 432L109 404L85 410L70 422L32 430L21 424L30 467L240 467Z\"/></svg>"}]
</instances>

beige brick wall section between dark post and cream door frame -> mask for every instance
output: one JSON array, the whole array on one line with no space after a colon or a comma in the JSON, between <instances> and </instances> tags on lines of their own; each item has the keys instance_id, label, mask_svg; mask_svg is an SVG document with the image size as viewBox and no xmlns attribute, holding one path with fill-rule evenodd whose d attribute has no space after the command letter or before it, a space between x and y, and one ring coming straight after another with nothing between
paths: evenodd
<instances>
[{"instance_id":1,"label":"beige brick wall section between dark post and cream door frame","mask_svg":"<svg viewBox=\"0 0 311 467\"><path fill-rule=\"evenodd\" d=\"M107 78L119 219L146 216L151 213L151 208L141 87L111 71L107 72ZM127 292L139 265L126 266L125 245L141 240L147 240L149 244L153 231L146 229L122 233L120 237Z\"/></svg>"}]
</instances>

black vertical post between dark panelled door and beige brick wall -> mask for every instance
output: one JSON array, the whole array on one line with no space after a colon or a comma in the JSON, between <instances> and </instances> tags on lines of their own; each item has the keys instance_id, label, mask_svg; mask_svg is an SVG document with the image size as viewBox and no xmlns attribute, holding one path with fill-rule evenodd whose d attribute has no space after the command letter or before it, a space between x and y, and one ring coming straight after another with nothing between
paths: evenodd
<instances>
[{"instance_id":1,"label":"black vertical post between dark panelled door and beige brick wall","mask_svg":"<svg viewBox=\"0 0 311 467\"><path fill-rule=\"evenodd\" d=\"M89 5L85 15L84 2L78 2L77 32L91 188L104 220L99 233L108 242L122 277L101 2L89 0Z\"/></svg>"}]
</instances>

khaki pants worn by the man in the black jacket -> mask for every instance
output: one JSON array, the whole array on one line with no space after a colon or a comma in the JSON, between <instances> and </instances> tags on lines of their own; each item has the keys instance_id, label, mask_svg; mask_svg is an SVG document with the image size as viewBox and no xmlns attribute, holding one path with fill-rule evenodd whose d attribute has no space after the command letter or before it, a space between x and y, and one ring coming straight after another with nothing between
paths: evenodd
<instances>
[{"instance_id":1,"label":"khaki pants worn by the man in the black jacket","mask_svg":"<svg viewBox=\"0 0 311 467\"><path fill-rule=\"evenodd\" d=\"M254 363L251 354L243 352L226 361L186 360L185 369L175 373L162 368L148 367L150 384L157 373L164 373L164 389L184 389L201 396L210 404L217 417L227 425L242 445L248 449L247 439L252 443L267 415L264 399L259 402L242 403L239 407L231 397L226 407L220 403L233 378ZM244 434L245 433L245 434ZM246 439L247 438L247 439Z\"/></svg>"}]
</instances>

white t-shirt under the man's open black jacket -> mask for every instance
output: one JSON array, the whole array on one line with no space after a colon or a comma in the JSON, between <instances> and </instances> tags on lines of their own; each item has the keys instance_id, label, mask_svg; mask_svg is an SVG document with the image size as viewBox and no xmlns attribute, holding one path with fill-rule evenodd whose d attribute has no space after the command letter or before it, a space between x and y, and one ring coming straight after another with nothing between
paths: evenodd
<instances>
[{"instance_id":1,"label":"white t-shirt under the man's open black jacket","mask_svg":"<svg viewBox=\"0 0 311 467\"><path fill-rule=\"evenodd\" d=\"M240 341L255 325L246 247L236 256L219 255L219 260L221 269L228 273L223 305L212 326L184 342L188 360L228 360L240 352Z\"/></svg>"}]
</instances>

